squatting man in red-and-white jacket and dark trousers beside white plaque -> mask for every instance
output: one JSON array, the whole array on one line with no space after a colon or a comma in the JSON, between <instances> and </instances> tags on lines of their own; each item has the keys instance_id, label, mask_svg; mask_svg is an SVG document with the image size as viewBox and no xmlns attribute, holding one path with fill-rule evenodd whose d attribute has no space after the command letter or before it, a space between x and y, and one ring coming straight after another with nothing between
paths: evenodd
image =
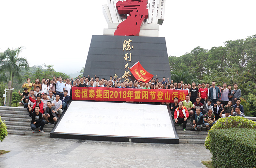
<instances>
[{"instance_id":1,"label":"squatting man in red-and-white jacket and dark trousers beside white plaque","mask_svg":"<svg viewBox=\"0 0 256 168\"><path fill-rule=\"evenodd\" d=\"M179 107L174 111L174 120L176 124L183 123L183 131L186 131L186 125L188 119L188 110L185 106L183 106L183 102L179 102Z\"/></svg>"}]
</instances>

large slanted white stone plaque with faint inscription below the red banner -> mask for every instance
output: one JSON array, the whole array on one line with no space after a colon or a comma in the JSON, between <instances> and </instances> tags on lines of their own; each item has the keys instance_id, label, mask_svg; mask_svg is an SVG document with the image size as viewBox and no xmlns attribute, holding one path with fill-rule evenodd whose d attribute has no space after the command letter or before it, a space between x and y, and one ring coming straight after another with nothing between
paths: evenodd
<instances>
[{"instance_id":1,"label":"large slanted white stone plaque with faint inscription below the red banner","mask_svg":"<svg viewBox=\"0 0 256 168\"><path fill-rule=\"evenodd\" d=\"M166 106L72 101L54 132L175 138Z\"/></svg>"}]
</instances>

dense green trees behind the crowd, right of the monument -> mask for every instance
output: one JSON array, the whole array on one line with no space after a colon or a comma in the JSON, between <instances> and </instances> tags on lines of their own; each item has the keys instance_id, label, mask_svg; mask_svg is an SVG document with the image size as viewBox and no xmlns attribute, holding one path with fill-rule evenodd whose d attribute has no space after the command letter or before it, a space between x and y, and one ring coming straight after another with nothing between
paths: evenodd
<instances>
[{"instance_id":1,"label":"dense green trees behind the crowd, right of the monument","mask_svg":"<svg viewBox=\"0 0 256 168\"><path fill-rule=\"evenodd\" d=\"M256 35L224 44L210 50L198 46L180 57L170 56L172 79L183 71L194 75L196 83L215 81L222 86L225 82L232 87L237 83L244 99L241 104L246 106L245 116L256 116Z\"/></svg>"}]
</instances>

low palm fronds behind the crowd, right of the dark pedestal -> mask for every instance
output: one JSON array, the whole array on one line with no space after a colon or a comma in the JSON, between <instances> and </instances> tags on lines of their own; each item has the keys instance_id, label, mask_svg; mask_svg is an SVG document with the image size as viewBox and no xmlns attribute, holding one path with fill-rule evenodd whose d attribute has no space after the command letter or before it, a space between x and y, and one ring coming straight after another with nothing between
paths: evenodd
<instances>
[{"instance_id":1,"label":"low palm fronds behind the crowd, right of the dark pedestal","mask_svg":"<svg viewBox=\"0 0 256 168\"><path fill-rule=\"evenodd\" d=\"M179 70L176 72L171 72L171 76L174 82L183 81L184 84L192 84L192 82L196 82L196 84L199 83L199 80L196 78L196 75L192 75L188 71Z\"/></svg>"}]
</instances>

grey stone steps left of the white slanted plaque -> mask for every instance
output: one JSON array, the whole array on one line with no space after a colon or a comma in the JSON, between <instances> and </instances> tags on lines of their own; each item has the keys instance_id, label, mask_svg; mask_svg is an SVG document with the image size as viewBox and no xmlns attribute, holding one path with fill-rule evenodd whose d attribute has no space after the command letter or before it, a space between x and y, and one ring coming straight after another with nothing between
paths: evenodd
<instances>
[{"instance_id":1,"label":"grey stone steps left of the white slanted plaque","mask_svg":"<svg viewBox=\"0 0 256 168\"><path fill-rule=\"evenodd\" d=\"M28 116L28 111L23 107L3 107L0 106L0 116L5 122L8 134L16 135L33 135L50 137L50 132L54 125L47 124L44 126L45 133L39 133L39 128L35 132L31 132L31 118Z\"/></svg>"}]
</instances>

